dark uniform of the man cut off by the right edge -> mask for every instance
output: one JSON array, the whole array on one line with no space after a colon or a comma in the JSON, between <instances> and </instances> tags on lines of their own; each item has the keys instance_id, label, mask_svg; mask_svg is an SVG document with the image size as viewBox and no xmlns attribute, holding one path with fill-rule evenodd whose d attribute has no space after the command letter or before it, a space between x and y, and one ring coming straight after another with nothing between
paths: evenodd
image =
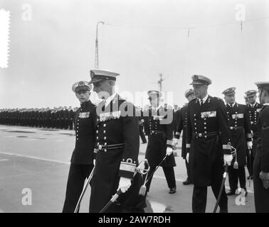
<instances>
[{"instance_id":1,"label":"dark uniform of the man cut off by the right edge","mask_svg":"<svg viewBox=\"0 0 269 227\"><path fill-rule=\"evenodd\" d=\"M258 145L253 165L255 210L257 213L269 212L269 189L263 187L260 171L269 172L269 106L260 111L257 123Z\"/></svg>"}]
</instances>

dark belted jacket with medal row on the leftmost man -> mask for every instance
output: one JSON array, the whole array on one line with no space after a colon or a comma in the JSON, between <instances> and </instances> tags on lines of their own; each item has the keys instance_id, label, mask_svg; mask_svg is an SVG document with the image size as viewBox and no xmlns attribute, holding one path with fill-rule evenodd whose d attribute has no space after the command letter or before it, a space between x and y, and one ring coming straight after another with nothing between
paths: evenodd
<instances>
[{"instance_id":1,"label":"dark belted jacket with medal row on the leftmost man","mask_svg":"<svg viewBox=\"0 0 269 227\"><path fill-rule=\"evenodd\" d=\"M75 149L71 163L93 165L95 148L95 105L89 100L75 112Z\"/></svg>"}]
</instances>

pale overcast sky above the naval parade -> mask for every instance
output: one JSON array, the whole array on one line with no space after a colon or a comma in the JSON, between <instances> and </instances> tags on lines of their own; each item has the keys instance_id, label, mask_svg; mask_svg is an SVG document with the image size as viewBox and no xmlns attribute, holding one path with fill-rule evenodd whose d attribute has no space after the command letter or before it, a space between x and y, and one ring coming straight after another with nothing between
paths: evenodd
<instances>
[{"instance_id":1,"label":"pale overcast sky above the naval parade","mask_svg":"<svg viewBox=\"0 0 269 227\"><path fill-rule=\"evenodd\" d=\"M174 92L182 106L191 75L211 78L212 96L237 88L237 100L269 80L268 0L0 0L11 11L9 67L0 69L0 108L78 106L71 87L90 80L99 27L99 67L120 73L119 92ZM246 5L241 31L236 4ZM219 25L219 26L209 26ZM191 27L188 38L188 27Z\"/></svg>"}]
</instances>

